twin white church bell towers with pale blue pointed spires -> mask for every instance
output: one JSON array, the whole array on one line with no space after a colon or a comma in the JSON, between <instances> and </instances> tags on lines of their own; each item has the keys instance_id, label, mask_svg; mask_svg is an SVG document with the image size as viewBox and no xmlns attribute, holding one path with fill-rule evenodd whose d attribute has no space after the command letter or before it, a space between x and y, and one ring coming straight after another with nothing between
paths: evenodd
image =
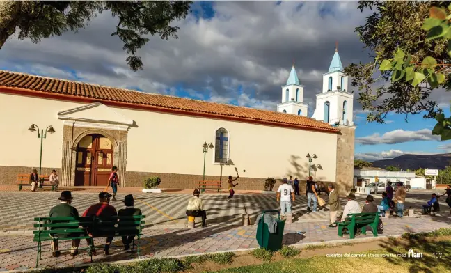
<instances>
[{"instance_id":1,"label":"twin white church bell towers with pale blue pointed spires","mask_svg":"<svg viewBox=\"0 0 451 273\"><path fill-rule=\"evenodd\" d=\"M308 105L303 102L304 86L299 83L296 69L290 71L287 84L282 86L282 103L277 111L298 116L308 115ZM329 71L323 74L322 93L316 95L316 108L312 115L315 120L322 120L331 125L354 126L354 93L349 93L348 76L343 73L343 65L335 49Z\"/></svg>"}]
</instances>

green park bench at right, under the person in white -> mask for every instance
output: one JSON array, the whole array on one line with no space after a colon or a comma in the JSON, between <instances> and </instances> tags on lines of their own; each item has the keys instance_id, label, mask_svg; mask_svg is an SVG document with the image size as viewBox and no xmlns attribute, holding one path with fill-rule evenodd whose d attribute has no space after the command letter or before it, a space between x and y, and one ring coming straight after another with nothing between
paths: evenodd
<instances>
[{"instance_id":1,"label":"green park bench at right, under the person in white","mask_svg":"<svg viewBox=\"0 0 451 273\"><path fill-rule=\"evenodd\" d=\"M366 226L371 226L373 236L377 237L379 213L380 212L365 212L348 214L345 221L335 223L338 225L338 236L343 237L343 228L347 228L349 237L354 239L358 228L361 228L362 234L366 235Z\"/></svg>"}]
</instances>

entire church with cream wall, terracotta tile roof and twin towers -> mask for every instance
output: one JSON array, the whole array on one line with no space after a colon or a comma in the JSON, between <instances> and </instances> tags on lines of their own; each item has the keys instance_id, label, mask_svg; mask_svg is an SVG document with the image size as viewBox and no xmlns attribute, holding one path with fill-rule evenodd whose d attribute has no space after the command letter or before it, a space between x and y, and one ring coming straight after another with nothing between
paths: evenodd
<instances>
[{"instance_id":1,"label":"entire church with cream wall, terracotta tile roof and twin towers","mask_svg":"<svg viewBox=\"0 0 451 273\"><path fill-rule=\"evenodd\" d=\"M329 69L324 77L345 86L341 70ZM41 173L56 169L62 186L104 186L117 166L121 186L143 187L145 178L159 176L161 187L193 188L204 176L225 182L236 176L236 167L237 189L263 189L269 177L306 180L309 173L349 189L351 94L329 89L317 95L318 104L329 102L324 122L318 104L313 118L307 117L294 68L278 111L0 70L0 184L14 185L17 174L41 162ZM347 115L335 123L342 100ZM204 143L211 143L207 153ZM309 162L307 154L317 158ZM318 164L320 169L310 168Z\"/></svg>"}]
</instances>

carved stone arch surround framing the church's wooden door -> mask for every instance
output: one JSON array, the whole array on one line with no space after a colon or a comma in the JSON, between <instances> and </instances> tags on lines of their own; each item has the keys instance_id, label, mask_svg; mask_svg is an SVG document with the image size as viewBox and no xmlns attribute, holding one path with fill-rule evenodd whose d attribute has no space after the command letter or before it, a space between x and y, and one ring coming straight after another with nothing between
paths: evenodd
<instances>
[{"instance_id":1,"label":"carved stone arch surround framing the church's wooden door","mask_svg":"<svg viewBox=\"0 0 451 273\"><path fill-rule=\"evenodd\" d=\"M81 127L77 123L63 127L63 159L61 168L61 185L75 185L75 166L77 159L77 146L81 139L88 134L101 134L111 141L113 157L118 167L119 180L125 182L125 169L127 167L127 130L111 130L94 127ZM121 186L125 186L121 183Z\"/></svg>"}]
</instances>

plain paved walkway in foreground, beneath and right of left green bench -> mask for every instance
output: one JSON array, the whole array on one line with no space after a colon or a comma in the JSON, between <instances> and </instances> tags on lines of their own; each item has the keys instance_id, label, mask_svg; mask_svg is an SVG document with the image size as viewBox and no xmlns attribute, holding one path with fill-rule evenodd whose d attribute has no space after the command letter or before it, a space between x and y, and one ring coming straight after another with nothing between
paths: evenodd
<instances>
[{"instance_id":1,"label":"plain paved walkway in foreground, beneath and right of left green bench","mask_svg":"<svg viewBox=\"0 0 451 273\"><path fill-rule=\"evenodd\" d=\"M437 228L450 228L451 218L420 217L399 219L393 217L383 219L385 230L383 235L400 235L404 232L433 231ZM327 221L297 222L286 224L283 244L303 244L312 242L328 242L342 240L338 237L336 228L329 228ZM192 255L198 253L212 253L216 251L234 251L237 249L252 249L258 247L255 240L257 226L211 225L207 228L145 228L141 240L141 258L170 257ZM297 232L303 231L305 235ZM372 235L358 235L356 238L372 237ZM96 239L95 244L102 246L103 239ZM115 238L113 245L120 246L119 238ZM60 242L60 249L68 249L70 242ZM81 242L86 247L86 242ZM43 244L44 250L49 250L49 242ZM29 235L0 236L0 271L25 270L35 266L37 243ZM136 253L125 252L121 248L111 249L110 256L102 253L94 257L94 262L110 262L117 260L131 260L137 258ZM68 251L63 251L59 258L53 258L50 252L42 253L40 268L53 266L73 266L90 263L87 251L72 258Z\"/></svg>"}]
</instances>

